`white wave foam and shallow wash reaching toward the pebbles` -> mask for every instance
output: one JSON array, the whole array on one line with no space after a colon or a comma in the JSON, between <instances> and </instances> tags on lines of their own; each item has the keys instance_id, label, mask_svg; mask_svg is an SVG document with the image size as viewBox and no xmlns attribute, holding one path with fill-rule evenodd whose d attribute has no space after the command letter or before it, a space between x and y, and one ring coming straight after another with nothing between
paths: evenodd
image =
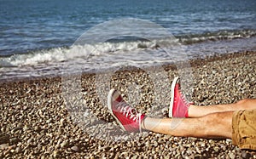
<instances>
[{"instance_id":1,"label":"white wave foam and shallow wash reaching toward the pebbles","mask_svg":"<svg viewBox=\"0 0 256 159\"><path fill-rule=\"evenodd\" d=\"M198 37L193 38L198 40L196 39ZM123 65L162 65L187 60L186 57L255 50L252 46L256 42L256 37L194 43L185 46L177 45L177 42L178 40L170 42L168 39L160 39L153 42L96 43L0 57L0 80L57 75L62 73L63 67L71 72L98 71ZM173 47L173 44L176 46ZM180 49L180 46L184 48Z\"/></svg>"}]
</instances>

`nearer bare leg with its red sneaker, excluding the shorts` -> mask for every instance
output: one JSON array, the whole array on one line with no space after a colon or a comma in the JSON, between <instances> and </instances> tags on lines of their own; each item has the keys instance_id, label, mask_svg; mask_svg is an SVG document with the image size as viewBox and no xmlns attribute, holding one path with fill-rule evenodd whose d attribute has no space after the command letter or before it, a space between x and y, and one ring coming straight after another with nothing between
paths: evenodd
<instances>
[{"instance_id":1,"label":"nearer bare leg with its red sneaker, excluding the shorts","mask_svg":"<svg viewBox=\"0 0 256 159\"><path fill-rule=\"evenodd\" d=\"M151 118L131 108L115 90L108 94L108 109L120 127L128 132L138 132L143 128L175 136L231 138L232 111L198 118Z\"/></svg>"}]
</instances>

